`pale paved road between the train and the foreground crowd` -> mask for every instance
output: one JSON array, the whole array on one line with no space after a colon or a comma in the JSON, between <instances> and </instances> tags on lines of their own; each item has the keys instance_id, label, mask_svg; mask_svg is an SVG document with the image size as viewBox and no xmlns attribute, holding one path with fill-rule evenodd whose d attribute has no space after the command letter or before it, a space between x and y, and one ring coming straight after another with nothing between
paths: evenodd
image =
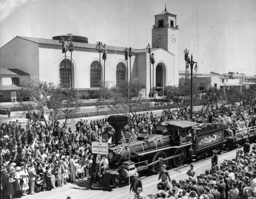
<instances>
[{"instance_id":1,"label":"pale paved road between the train and the foreground crowd","mask_svg":"<svg viewBox=\"0 0 256 199\"><path fill-rule=\"evenodd\" d=\"M224 159L232 159L236 156L236 150L232 150L223 154L219 155L219 163L222 163ZM211 159L208 158L206 160L201 160L195 163L196 175L200 173L204 173L206 169L210 169ZM189 169L189 165L186 164L179 168L174 169L167 169L170 173L171 179L176 179L177 181L180 179L186 179L186 171ZM157 192L157 180L158 174L150 175L150 176L141 176L142 183L143 183L143 192L144 195L148 195L151 193ZM105 198L134 198L133 194L129 195L129 186L124 185L123 187L111 189L108 191L103 190L91 190L90 189L90 182L88 180L82 180L80 182L65 185L62 188L57 188L52 191L45 191L36 193L36 195L28 195L23 198L37 198L37 199L49 199L49 198L66 198L70 195L72 198L79 198L79 199L86 199L86 198L97 198L97 199L105 199Z\"/></svg>"}]
</instances>

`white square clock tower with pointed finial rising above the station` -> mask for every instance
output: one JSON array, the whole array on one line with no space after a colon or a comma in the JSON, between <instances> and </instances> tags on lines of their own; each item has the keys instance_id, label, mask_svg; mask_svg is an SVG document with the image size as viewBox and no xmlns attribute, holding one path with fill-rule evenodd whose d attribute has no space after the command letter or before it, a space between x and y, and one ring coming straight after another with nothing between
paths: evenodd
<instances>
[{"instance_id":1,"label":"white square clock tower with pointed finial rising above the station","mask_svg":"<svg viewBox=\"0 0 256 199\"><path fill-rule=\"evenodd\" d=\"M166 10L155 15L152 29L152 48L163 48L175 55L175 69L179 70L179 29L175 14Z\"/></svg>"}]
</instances>

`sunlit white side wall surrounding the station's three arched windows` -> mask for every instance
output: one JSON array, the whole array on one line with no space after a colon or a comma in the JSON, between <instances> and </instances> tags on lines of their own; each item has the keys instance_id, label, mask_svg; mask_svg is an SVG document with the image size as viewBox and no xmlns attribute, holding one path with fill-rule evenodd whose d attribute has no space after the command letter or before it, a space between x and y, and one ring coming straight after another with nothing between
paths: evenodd
<instances>
[{"instance_id":1,"label":"sunlit white side wall surrounding the station's three arched windows","mask_svg":"<svg viewBox=\"0 0 256 199\"><path fill-rule=\"evenodd\" d=\"M67 59L71 60L70 52L67 52ZM101 53L101 78L103 80L104 61ZM59 64L65 59L65 55L61 54L61 49L39 48L39 77L40 81L52 81L55 84L59 83ZM131 59L132 81L136 75L135 56ZM90 89L90 67L94 61L99 61L99 53L93 49L79 50L75 49L72 53L74 65L74 82L73 86L79 89ZM105 61L105 81L110 81L111 85L116 84L116 67L118 63L123 63L127 71L124 53L116 51L108 51ZM130 58L128 61L130 71ZM130 72L129 72L130 76ZM127 74L125 74L125 79ZM129 77L130 78L130 77Z\"/></svg>"}]
</instances>

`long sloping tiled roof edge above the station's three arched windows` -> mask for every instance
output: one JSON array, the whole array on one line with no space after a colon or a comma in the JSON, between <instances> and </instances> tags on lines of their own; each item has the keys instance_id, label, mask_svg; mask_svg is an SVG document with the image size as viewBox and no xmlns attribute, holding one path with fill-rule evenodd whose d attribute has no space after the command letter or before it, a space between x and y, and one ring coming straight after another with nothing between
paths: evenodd
<instances>
[{"instance_id":1,"label":"long sloping tiled roof edge above the station's three arched windows","mask_svg":"<svg viewBox=\"0 0 256 199\"><path fill-rule=\"evenodd\" d=\"M23 36L17 36L22 39L26 39L35 43L40 43L40 44L45 44L45 45L57 45L61 46L61 43L59 43L59 40L54 40L54 39L42 39L42 38L34 38L34 37L23 37ZM68 44L68 42L66 42ZM89 49L95 49L96 44L92 43L81 43L81 42L73 42L74 47L78 48L89 48ZM106 46L106 49L110 51L124 51L124 47L114 47L114 46ZM132 49L132 52L136 53L137 49Z\"/></svg>"}]
</instances>

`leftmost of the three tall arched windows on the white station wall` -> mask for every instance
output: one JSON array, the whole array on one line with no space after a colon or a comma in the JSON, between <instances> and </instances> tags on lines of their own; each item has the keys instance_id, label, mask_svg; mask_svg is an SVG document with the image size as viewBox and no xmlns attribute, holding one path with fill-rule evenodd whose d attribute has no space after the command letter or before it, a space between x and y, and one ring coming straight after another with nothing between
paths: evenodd
<instances>
[{"instance_id":1,"label":"leftmost of the three tall arched windows on the white station wall","mask_svg":"<svg viewBox=\"0 0 256 199\"><path fill-rule=\"evenodd\" d=\"M67 60L67 68L65 59L59 64L59 83L64 88L67 87L67 84L69 89L72 87L72 65L70 60Z\"/></svg>"}]
</instances>

